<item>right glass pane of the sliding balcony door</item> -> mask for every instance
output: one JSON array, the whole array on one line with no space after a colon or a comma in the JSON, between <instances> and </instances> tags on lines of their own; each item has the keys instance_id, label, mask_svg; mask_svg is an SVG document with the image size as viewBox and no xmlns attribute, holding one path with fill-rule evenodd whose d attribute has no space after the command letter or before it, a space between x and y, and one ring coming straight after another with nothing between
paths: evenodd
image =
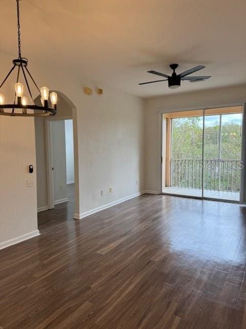
<instances>
[{"instance_id":1,"label":"right glass pane of the sliding balcony door","mask_svg":"<svg viewBox=\"0 0 246 329\"><path fill-rule=\"evenodd\" d=\"M213 111L216 115L211 115ZM220 111L205 111L203 195L236 201L240 189L241 114L222 114L223 108Z\"/></svg>"}]
</instances>

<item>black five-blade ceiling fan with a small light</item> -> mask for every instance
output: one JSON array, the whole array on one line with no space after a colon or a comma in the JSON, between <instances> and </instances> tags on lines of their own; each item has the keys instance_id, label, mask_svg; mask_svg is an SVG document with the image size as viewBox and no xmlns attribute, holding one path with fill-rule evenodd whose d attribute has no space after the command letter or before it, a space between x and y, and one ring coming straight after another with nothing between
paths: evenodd
<instances>
[{"instance_id":1,"label":"black five-blade ceiling fan with a small light","mask_svg":"<svg viewBox=\"0 0 246 329\"><path fill-rule=\"evenodd\" d=\"M161 76L161 77L164 77L164 78L167 78L167 79L150 81L150 82L142 82L142 83L139 83L139 84L141 85L141 84L148 84L148 83L153 83L153 82L168 81L169 88L176 89L176 88L180 87L181 80L188 80L190 82L198 82L198 81L204 81L204 80L207 80L207 79L211 78L211 76L187 77L190 74L204 68L205 67L204 65L198 65L196 67L190 68L189 70L187 70L185 72L182 72L179 75L177 75L176 72L175 72L176 68L178 67L178 64L171 64L170 67L173 70L172 76L168 76L166 74L163 74L163 73L160 73L160 72L157 72L157 71L153 71L153 70L148 71L148 73L152 73L152 74L155 74L157 76Z\"/></svg>"}]
</instances>

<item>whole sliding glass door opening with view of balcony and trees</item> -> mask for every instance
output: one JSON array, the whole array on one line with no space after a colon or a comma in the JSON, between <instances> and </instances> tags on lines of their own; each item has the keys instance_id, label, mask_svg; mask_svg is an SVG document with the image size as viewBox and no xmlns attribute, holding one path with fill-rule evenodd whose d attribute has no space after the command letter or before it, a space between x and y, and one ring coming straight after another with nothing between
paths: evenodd
<instances>
[{"instance_id":1,"label":"whole sliding glass door opening with view of balcony and trees","mask_svg":"<svg viewBox=\"0 0 246 329\"><path fill-rule=\"evenodd\" d=\"M239 202L242 106L162 115L162 193Z\"/></svg>"}]
</instances>

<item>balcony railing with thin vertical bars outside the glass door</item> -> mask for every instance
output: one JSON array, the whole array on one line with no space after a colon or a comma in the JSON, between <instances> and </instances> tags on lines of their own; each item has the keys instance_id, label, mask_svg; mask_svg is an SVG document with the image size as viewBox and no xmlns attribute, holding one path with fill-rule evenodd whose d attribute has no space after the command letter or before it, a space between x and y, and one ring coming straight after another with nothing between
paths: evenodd
<instances>
[{"instance_id":1,"label":"balcony railing with thin vertical bars outside the glass door","mask_svg":"<svg viewBox=\"0 0 246 329\"><path fill-rule=\"evenodd\" d=\"M172 159L172 186L201 189L202 168L204 189L239 192L241 160Z\"/></svg>"}]
</instances>

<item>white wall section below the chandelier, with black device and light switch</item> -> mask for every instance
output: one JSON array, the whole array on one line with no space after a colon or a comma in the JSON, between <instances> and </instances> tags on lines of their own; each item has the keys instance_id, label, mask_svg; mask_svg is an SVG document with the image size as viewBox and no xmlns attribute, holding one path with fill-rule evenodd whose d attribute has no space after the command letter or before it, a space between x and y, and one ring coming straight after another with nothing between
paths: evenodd
<instances>
[{"instance_id":1,"label":"white wall section below the chandelier, with black device and light switch","mask_svg":"<svg viewBox=\"0 0 246 329\"><path fill-rule=\"evenodd\" d=\"M34 172L29 173L29 165ZM38 234L32 118L0 116L0 249ZM13 239L13 240L12 240Z\"/></svg>"}]
</instances>

